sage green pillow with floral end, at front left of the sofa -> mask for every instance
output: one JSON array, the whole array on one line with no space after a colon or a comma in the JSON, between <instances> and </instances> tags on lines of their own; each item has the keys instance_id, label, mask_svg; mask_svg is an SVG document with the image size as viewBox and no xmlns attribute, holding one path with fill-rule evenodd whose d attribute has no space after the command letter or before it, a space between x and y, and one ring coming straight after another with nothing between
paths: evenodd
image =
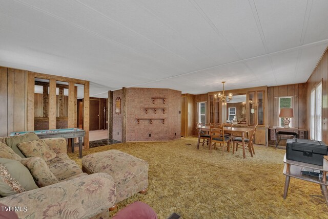
<instances>
[{"instance_id":1,"label":"sage green pillow with floral end, at front left of the sofa","mask_svg":"<svg viewBox=\"0 0 328 219\"><path fill-rule=\"evenodd\" d=\"M0 195L3 197L36 189L30 171L19 161L0 158Z\"/></svg>"}]
</instances>

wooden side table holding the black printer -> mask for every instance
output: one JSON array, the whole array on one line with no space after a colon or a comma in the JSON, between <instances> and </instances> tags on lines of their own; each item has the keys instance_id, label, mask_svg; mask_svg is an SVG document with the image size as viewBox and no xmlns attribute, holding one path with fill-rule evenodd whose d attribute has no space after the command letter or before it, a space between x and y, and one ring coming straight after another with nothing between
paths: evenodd
<instances>
[{"instance_id":1,"label":"wooden side table holding the black printer","mask_svg":"<svg viewBox=\"0 0 328 219\"><path fill-rule=\"evenodd\" d=\"M283 199L286 199L287 197L290 178L294 177L296 179L319 184L321 193L323 194L324 199L326 201L326 205L328 207L328 190L327 190L328 182L326 180L326 173L328 171L328 161L326 159L323 159L323 166L319 166L315 164L308 164L299 161L287 160L285 154L285 156L283 157L283 162L285 163L285 166L283 168L283 174L286 176ZM306 174L302 174L301 172L302 167L321 170L323 172L323 178L312 177Z\"/></svg>"}]
</instances>

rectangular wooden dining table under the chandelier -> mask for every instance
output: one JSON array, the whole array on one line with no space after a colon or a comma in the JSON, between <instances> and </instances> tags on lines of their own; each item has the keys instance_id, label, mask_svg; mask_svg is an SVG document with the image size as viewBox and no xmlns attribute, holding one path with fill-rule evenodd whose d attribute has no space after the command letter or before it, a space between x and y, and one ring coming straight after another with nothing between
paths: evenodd
<instances>
[{"instance_id":1,"label":"rectangular wooden dining table under the chandelier","mask_svg":"<svg viewBox=\"0 0 328 219\"><path fill-rule=\"evenodd\" d=\"M209 132L211 135L211 127L210 125L202 125L202 126L197 126L197 129L201 129L201 131L204 132ZM246 153L245 153L245 136L247 136L247 134L249 132L251 132L251 130L253 130L252 127L231 127L231 126L223 126L223 130L224 133L227 134L239 134L241 135L241 142L242 142L242 155L243 158L246 158ZM197 149L199 149L199 144L197 144ZM248 147L249 152L251 153L251 157L253 157L253 152L252 152L252 148Z\"/></svg>"}]
</instances>

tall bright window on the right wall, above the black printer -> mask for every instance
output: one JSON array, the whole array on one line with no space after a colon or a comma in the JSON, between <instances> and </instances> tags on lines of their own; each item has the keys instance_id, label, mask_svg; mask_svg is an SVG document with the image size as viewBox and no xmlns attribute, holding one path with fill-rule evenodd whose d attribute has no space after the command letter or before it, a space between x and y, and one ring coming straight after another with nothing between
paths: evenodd
<instances>
[{"instance_id":1,"label":"tall bright window on the right wall, above the black printer","mask_svg":"<svg viewBox=\"0 0 328 219\"><path fill-rule=\"evenodd\" d=\"M321 108L322 108L322 83L320 82L311 91L311 128L310 138L311 140L321 141Z\"/></svg>"}]
</instances>

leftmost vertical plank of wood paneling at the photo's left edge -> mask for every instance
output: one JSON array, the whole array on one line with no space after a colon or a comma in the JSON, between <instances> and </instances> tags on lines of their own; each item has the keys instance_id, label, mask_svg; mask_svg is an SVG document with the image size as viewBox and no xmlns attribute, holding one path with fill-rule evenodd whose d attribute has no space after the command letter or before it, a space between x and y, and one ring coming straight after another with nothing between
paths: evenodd
<instances>
[{"instance_id":1,"label":"leftmost vertical plank of wood paneling at the photo's left edge","mask_svg":"<svg viewBox=\"0 0 328 219\"><path fill-rule=\"evenodd\" d=\"M0 136L7 136L7 128L8 128L8 108L7 108L7 101L8 101L8 74L7 68L0 67Z\"/></svg>"}]
</instances>

